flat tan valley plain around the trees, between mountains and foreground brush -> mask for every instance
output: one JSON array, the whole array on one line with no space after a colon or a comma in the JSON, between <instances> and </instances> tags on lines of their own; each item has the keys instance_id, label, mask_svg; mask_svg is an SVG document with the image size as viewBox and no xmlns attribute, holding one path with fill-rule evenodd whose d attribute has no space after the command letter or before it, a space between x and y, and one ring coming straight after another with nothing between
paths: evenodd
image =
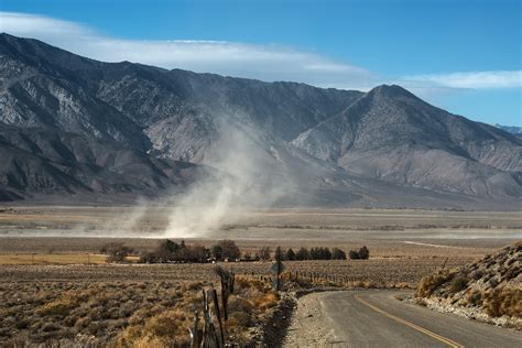
<instances>
[{"instance_id":1,"label":"flat tan valley plain around the trees, between mountains and foreground brush","mask_svg":"<svg viewBox=\"0 0 522 348\"><path fill-rule=\"evenodd\" d=\"M414 209L280 209L241 213L197 238L164 233L168 209L133 207L0 208L0 278L10 281L205 280L211 264L115 265L99 254L108 242L137 253L172 238L210 247L232 239L242 252L262 246L367 246L369 261L287 262L291 271L328 273L376 284L409 283L441 268L457 267L522 239L522 215L502 211ZM135 259L134 259L135 261ZM230 263L239 273L269 275L269 263Z\"/></svg>"}]
</instances>

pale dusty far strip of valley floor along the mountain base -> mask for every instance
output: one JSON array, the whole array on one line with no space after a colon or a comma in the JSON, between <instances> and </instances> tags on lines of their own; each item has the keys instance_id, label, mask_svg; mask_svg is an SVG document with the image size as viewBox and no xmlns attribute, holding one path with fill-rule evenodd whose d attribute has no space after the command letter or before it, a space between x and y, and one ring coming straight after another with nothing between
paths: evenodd
<instances>
[{"instance_id":1,"label":"pale dusty far strip of valley floor along the mountain base","mask_svg":"<svg viewBox=\"0 0 522 348\"><path fill-rule=\"evenodd\" d=\"M3 207L0 236L46 237L139 237L165 236L171 209L162 207ZM254 238L257 232L279 230L304 238L329 231L415 231L415 230L522 230L518 211L446 211L415 209L279 209L237 213L216 231L194 231L202 238L230 235ZM297 235L297 236L296 236ZM338 233L337 233L338 235ZM331 236L336 236L333 233ZM186 237L186 236L185 236ZM274 235L272 238L285 238Z\"/></svg>"}]
</instances>

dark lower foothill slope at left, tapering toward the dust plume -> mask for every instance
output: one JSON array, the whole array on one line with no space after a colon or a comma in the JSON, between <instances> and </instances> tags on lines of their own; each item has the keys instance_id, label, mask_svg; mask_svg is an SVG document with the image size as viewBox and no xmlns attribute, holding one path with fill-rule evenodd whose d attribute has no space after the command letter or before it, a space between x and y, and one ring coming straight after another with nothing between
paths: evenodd
<instances>
[{"instance_id":1,"label":"dark lower foothill slope at left, tapering toward the dust plume","mask_svg":"<svg viewBox=\"0 0 522 348\"><path fill-rule=\"evenodd\" d=\"M1 123L0 163L1 200L152 198L209 175L204 167L149 156L113 141Z\"/></svg>"}]
</instances>

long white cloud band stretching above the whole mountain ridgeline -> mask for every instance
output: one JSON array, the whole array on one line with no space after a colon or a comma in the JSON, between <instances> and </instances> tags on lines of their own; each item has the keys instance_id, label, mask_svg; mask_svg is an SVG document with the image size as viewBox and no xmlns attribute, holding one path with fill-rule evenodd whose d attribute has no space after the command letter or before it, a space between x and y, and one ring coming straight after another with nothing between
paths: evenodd
<instances>
[{"instance_id":1,"label":"long white cloud band stretching above the whole mountain ridgeline","mask_svg":"<svg viewBox=\"0 0 522 348\"><path fill-rule=\"evenodd\" d=\"M140 41L111 37L87 25L39 14L0 12L0 31L42 40L104 62L130 61L164 68L293 80L319 87L369 90L399 84L422 97L461 89L521 88L521 70L423 74L391 78L324 55L281 45L227 41Z\"/></svg>"}]
</instances>

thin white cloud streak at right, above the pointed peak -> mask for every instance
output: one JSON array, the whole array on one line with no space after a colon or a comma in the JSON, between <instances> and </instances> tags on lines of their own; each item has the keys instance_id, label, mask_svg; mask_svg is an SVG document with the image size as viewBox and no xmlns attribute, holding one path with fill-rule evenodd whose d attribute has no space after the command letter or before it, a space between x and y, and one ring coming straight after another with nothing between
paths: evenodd
<instances>
[{"instance_id":1,"label":"thin white cloud streak at right, above the pointed peak","mask_svg":"<svg viewBox=\"0 0 522 348\"><path fill-rule=\"evenodd\" d=\"M520 88L522 70L426 74L405 76L401 80L417 88Z\"/></svg>"}]
</instances>

